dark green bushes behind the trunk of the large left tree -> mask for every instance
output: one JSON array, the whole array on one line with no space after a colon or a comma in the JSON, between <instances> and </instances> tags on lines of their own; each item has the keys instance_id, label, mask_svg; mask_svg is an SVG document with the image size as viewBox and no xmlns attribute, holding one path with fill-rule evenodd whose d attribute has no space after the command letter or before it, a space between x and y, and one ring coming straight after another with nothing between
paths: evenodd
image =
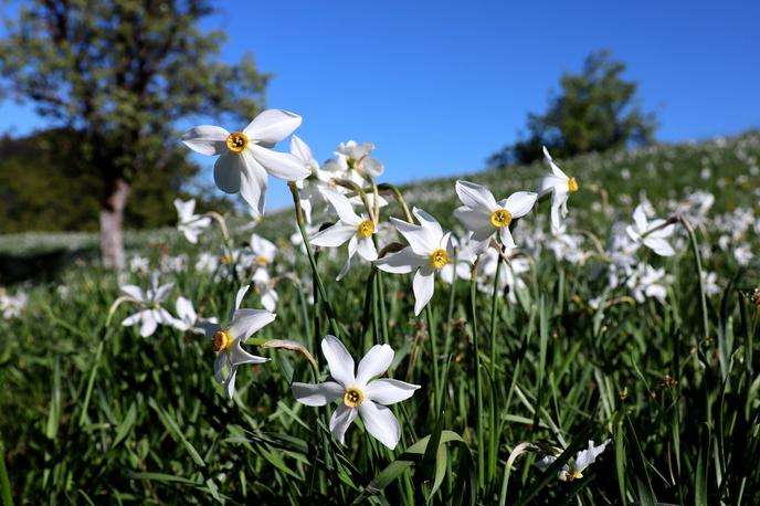
<instances>
[{"instance_id":1,"label":"dark green bushes behind the trunk of the large left tree","mask_svg":"<svg viewBox=\"0 0 760 506\"><path fill-rule=\"evenodd\" d=\"M34 133L23 138L0 138L0 232L97 230L104 181L82 160L83 134L68 128ZM184 181L198 167L175 147L171 170L135 175L134 205L127 209L128 228L172 224L173 199L183 196ZM218 210L230 209L221 199ZM208 208L200 202L199 208Z\"/></svg>"}]
</instances>

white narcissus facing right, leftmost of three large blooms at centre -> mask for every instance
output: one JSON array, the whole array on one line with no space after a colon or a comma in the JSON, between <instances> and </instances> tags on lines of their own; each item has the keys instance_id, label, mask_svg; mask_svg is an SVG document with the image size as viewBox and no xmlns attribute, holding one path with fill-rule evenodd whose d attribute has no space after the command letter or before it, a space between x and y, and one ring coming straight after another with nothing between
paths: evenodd
<instances>
[{"instance_id":1,"label":"white narcissus facing right, leftmost of three large blooms at centre","mask_svg":"<svg viewBox=\"0 0 760 506\"><path fill-rule=\"evenodd\" d=\"M314 234L312 244L321 247L337 247L348 241L348 260L338 274L338 280L340 280L351 268L353 255L357 253L368 262L378 259L378 251L372 242L377 226L367 214L362 213L360 217L353 212L351 203L340 193L325 190L323 194L338 214L338 222Z\"/></svg>"}]
</instances>

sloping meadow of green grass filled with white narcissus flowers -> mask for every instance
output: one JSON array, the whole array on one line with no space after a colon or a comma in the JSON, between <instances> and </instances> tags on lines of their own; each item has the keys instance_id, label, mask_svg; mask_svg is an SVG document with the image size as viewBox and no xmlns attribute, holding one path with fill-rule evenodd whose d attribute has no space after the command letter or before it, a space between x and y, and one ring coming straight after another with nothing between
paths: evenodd
<instances>
[{"instance_id":1,"label":"sloping meadow of green grass filled with white narcissus flowers","mask_svg":"<svg viewBox=\"0 0 760 506\"><path fill-rule=\"evenodd\" d=\"M255 218L123 273L0 238L3 504L760 504L760 135L394 187L299 122L190 130Z\"/></svg>"}]
</instances>

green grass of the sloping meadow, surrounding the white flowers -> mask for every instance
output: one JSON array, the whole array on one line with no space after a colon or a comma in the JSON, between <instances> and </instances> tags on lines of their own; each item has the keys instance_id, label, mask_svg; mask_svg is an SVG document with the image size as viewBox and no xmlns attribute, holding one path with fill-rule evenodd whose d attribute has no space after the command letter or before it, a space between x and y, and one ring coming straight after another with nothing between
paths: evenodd
<instances>
[{"instance_id":1,"label":"green grass of the sloping meadow, surrounding the white flowers","mask_svg":"<svg viewBox=\"0 0 760 506\"><path fill-rule=\"evenodd\" d=\"M295 402L289 383L313 377L294 351L249 345L272 361L242 368L230 401L213 380L214 352L204 338L168 327L141 338L119 325L130 314L126 305L107 325L118 283L92 256L66 256L35 282L10 286L25 289L30 304L22 318L0 319L0 457L9 476L3 479L0 465L0 497L15 504L759 504L760 310L749 297L760 284L758 263L738 265L730 249L719 247L718 229L737 209L754 209L757 223L760 135L558 161L581 185L570 199L569 231L589 232L589 257L557 261L543 247L522 276L527 291L517 304L494 302L465 280L436 282L430 314L418 318L411 276L383 273L368 282L370 268L359 264L337 283L345 249L337 261L319 254L340 337L355 358L387 336L395 350L390 376L422 386L393 408L402 425L393 452L360 423L340 446L326 432L327 409ZM535 188L545 170L511 167L466 178L500 198ZM707 328L684 232L672 259L638 254L674 276L665 304L634 303L624 286L609 289L590 239L604 246L614 221L631 221L640 192L666 215L694 190L716 198L696 232L704 268L717 272L724 287L707 301ZM410 205L455 225L453 179L402 191ZM389 214L402 217L394 204L383 211ZM542 204L518 228L548 231L547 218ZM233 230L243 224L232 223ZM328 318L323 305L308 303L308 259L286 246L295 230L292 211L267 215L255 230L283 245L275 272L299 280L277 285L277 319L255 337L302 342L325 376L319 340ZM234 234L235 241L247 234ZM92 238L82 241L64 245L92 246ZM751 226L738 241L757 254ZM219 253L221 243L217 230L199 246L171 231L128 240L154 266L161 255L190 255L188 272L162 275L175 283L172 313L183 295L203 316L224 318L240 283L192 268L198 253ZM49 238L24 245L18 236L0 239L0 254L14 259L57 247ZM128 276L142 286L147 280ZM600 295L616 303L592 309ZM258 307L257 295L243 306ZM582 478L557 479L556 471L589 439L608 438L612 443ZM507 458L522 442L564 452L546 473L531 465L536 452L518 456L507 473Z\"/></svg>"}]
</instances>

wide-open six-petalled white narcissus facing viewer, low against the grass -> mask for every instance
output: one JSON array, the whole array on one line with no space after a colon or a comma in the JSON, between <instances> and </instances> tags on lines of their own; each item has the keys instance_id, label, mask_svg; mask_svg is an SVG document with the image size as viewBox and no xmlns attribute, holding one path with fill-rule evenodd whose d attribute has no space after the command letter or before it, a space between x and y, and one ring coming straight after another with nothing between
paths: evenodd
<instances>
[{"instance_id":1,"label":"wide-open six-petalled white narcissus facing viewer, low against the grass","mask_svg":"<svg viewBox=\"0 0 760 506\"><path fill-rule=\"evenodd\" d=\"M330 432L340 444L345 444L346 431L359 415L367 432L393 450L401 439L401 426L388 404L409 399L419 384L381 378L393 361L393 349L388 345L376 345L359 362L355 375L353 358L338 338L326 336L321 351L335 381L324 383L293 383L293 394L306 405L325 405L335 400L342 402L332 413Z\"/></svg>"}]
</instances>

